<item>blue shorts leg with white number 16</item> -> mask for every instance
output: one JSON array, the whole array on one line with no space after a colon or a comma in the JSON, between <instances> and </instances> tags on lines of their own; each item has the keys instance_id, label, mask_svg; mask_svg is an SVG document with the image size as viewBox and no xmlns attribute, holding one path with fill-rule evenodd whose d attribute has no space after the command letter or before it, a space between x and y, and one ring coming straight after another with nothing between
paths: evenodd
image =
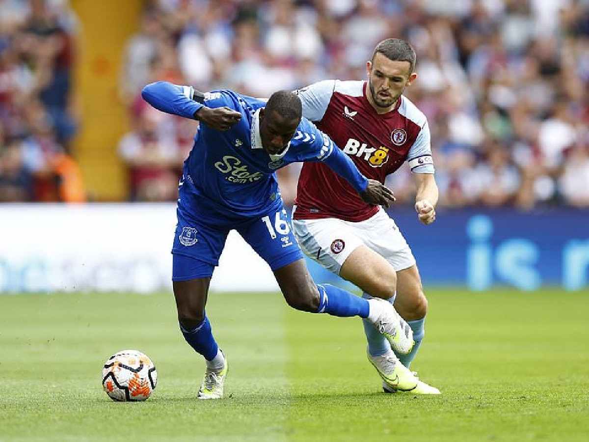
<instances>
[{"instance_id":1,"label":"blue shorts leg with white number 16","mask_svg":"<svg viewBox=\"0 0 589 442\"><path fill-rule=\"evenodd\" d=\"M268 263L272 271L303 258L289 216L282 206L237 227L237 232Z\"/></svg>"}]
</instances>

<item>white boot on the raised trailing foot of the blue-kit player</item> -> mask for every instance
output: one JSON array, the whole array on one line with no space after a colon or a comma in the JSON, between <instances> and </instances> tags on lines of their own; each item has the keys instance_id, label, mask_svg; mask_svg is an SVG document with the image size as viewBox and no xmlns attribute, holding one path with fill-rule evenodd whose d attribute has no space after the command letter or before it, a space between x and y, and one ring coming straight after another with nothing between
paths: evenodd
<instances>
[{"instance_id":1,"label":"white boot on the raised trailing foot of the blue-kit player","mask_svg":"<svg viewBox=\"0 0 589 442\"><path fill-rule=\"evenodd\" d=\"M409 324L401 318L389 301L372 298L368 299L368 303L370 313L367 319L384 335L397 353L408 354L415 344L413 330Z\"/></svg>"}]
</instances>

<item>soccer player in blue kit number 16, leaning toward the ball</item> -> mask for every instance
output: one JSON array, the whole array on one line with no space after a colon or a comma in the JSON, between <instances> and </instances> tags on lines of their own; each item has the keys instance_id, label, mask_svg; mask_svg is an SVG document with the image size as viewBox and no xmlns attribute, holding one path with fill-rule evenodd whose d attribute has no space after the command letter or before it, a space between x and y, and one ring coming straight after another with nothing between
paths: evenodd
<instances>
[{"instance_id":1,"label":"soccer player in blue kit number 16, leaning toward the ball","mask_svg":"<svg viewBox=\"0 0 589 442\"><path fill-rule=\"evenodd\" d=\"M411 351L411 328L389 302L316 285L307 271L283 207L276 169L297 161L322 161L365 202L388 206L394 198L302 118L296 94L279 91L266 103L230 90L203 94L160 81L145 86L142 96L158 110L200 121L179 185L172 249L180 329L206 360L198 398L223 397L227 359L213 338L205 305L214 267L233 229L266 260L287 304L305 312L368 319L397 351ZM408 371L398 365L402 382Z\"/></svg>"}]
</instances>

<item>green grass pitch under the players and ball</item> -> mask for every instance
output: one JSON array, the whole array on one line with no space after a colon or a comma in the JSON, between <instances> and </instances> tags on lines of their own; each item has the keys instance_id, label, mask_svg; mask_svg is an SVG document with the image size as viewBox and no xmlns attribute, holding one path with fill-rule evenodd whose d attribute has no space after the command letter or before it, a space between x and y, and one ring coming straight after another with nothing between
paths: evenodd
<instances>
[{"instance_id":1,"label":"green grass pitch under the players and ball","mask_svg":"<svg viewBox=\"0 0 589 442\"><path fill-rule=\"evenodd\" d=\"M413 369L439 397L386 395L357 318L292 311L278 293L211 294L230 364L226 398L197 401L204 370L173 296L0 296L0 440L587 441L589 293L428 290ZM145 403L114 403L102 364L148 354Z\"/></svg>"}]
</instances>

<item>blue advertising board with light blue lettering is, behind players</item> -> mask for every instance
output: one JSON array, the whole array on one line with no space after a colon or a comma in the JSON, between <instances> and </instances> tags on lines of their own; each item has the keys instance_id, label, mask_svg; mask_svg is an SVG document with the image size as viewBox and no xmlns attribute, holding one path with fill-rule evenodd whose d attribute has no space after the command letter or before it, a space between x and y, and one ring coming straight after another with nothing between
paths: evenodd
<instances>
[{"instance_id":1,"label":"blue advertising board with light blue lettering is, behind players","mask_svg":"<svg viewBox=\"0 0 589 442\"><path fill-rule=\"evenodd\" d=\"M494 285L531 291L542 285L589 285L589 210L438 210L430 226L415 212L393 209L424 284L480 291ZM308 260L310 261L310 260ZM309 262L316 281L341 280Z\"/></svg>"}]
</instances>

